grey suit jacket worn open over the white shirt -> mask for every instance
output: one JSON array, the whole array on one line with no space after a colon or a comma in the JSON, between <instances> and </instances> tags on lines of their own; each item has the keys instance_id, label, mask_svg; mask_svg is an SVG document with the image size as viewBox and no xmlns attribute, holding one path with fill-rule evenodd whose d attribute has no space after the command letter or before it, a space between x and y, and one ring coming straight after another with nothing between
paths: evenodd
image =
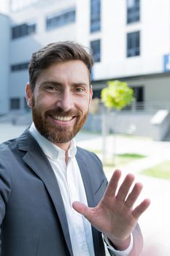
<instances>
[{"instance_id":1,"label":"grey suit jacket worn open over the white shirt","mask_svg":"<svg viewBox=\"0 0 170 256\"><path fill-rule=\"evenodd\" d=\"M96 206L107 187L101 162L82 148L76 158L88 206ZM58 182L28 129L0 146L0 225L1 256L73 256ZM92 232L95 255L104 256L101 233ZM134 233L131 255L139 255L139 226Z\"/></svg>"}]
</instances>

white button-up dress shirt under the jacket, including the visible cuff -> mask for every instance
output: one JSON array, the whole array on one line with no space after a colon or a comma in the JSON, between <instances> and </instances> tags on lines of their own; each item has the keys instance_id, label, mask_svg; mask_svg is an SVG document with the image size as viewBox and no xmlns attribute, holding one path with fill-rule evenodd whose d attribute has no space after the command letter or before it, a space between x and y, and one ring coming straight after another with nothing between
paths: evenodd
<instances>
[{"instance_id":1,"label":"white button-up dress shirt under the jacket, including the visible cuff","mask_svg":"<svg viewBox=\"0 0 170 256\"><path fill-rule=\"evenodd\" d=\"M80 168L75 158L77 148L74 139L71 141L69 146L69 162L66 165L65 151L63 151L63 149L55 146L54 143L51 143L45 137L40 135L34 124L31 124L29 130L37 143L39 143L42 151L44 151L53 168L55 177L57 178L63 199L63 205L66 211L74 256L94 256L93 236L90 222L88 222L88 219L85 219L82 214L77 213L77 211L72 208L72 203L74 201L80 201L85 203L85 205L88 204ZM107 241L108 248L117 256L128 255L133 246L132 238L128 249L125 251L117 251L109 245L109 241L105 236L104 238Z\"/></svg>"}]
</instances>

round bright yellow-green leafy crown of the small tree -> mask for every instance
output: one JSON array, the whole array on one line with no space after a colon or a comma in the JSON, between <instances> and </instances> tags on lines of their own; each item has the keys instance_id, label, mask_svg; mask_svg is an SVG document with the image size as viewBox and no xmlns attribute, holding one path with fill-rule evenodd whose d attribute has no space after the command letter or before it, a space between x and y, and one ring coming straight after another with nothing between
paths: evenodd
<instances>
[{"instance_id":1,"label":"round bright yellow-green leafy crown of the small tree","mask_svg":"<svg viewBox=\"0 0 170 256\"><path fill-rule=\"evenodd\" d=\"M126 105L131 105L134 100L134 91L128 84L119 80L109 81L108 86L101 90L101 102L107 108L121 110Z\"/></svg>"}]
</instances>

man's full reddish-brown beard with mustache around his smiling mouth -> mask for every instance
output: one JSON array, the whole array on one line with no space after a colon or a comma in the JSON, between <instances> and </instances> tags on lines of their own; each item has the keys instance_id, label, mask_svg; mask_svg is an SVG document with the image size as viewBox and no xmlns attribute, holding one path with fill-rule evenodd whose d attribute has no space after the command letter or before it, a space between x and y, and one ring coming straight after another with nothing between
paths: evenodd
<instances>
[{"instance_id":1,"label":"man's full reddish-brown beard with mustache around his smiling mouth","mask_svg":"<svg viewBox=\"0 0 170 256\"><path fill-rule=\"evenodd\" d=\"M61 127L57 124L52 124L47 121L48 116L74 116L77 120L74 125L70 127ZM42 114L38 108L36 108L33 100L32 117L36 129L47 140L52 143L67 143L77 135L88 116L88 111L82 115L82 112L77 109L64 111L62 108L56 108L55 110L47 110Z\"/></svg>"}]
</instances>

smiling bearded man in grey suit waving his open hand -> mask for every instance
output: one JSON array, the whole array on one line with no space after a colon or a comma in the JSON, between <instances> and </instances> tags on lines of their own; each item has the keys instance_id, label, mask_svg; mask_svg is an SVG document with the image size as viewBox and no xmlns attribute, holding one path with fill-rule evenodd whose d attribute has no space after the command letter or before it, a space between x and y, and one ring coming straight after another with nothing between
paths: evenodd
<instances>
[{"instance_id":1,"label":"smiling bearded man in grey suit waving his open hand","mask_svg":"<svg viewBox=\"0 0 170 256\"><path fill-rule=\"evenodd\" d=\"M133 209L142 185L129 193L128 174L117 191L116 170L107 187L98 157L75 145L92 98L92 66L75 42L32 55L26 99L34 122L0 147L1 256L104 256L104 241L111 255L142 250L137 220L150 200Z\"/></svg>"}]
</instances>

